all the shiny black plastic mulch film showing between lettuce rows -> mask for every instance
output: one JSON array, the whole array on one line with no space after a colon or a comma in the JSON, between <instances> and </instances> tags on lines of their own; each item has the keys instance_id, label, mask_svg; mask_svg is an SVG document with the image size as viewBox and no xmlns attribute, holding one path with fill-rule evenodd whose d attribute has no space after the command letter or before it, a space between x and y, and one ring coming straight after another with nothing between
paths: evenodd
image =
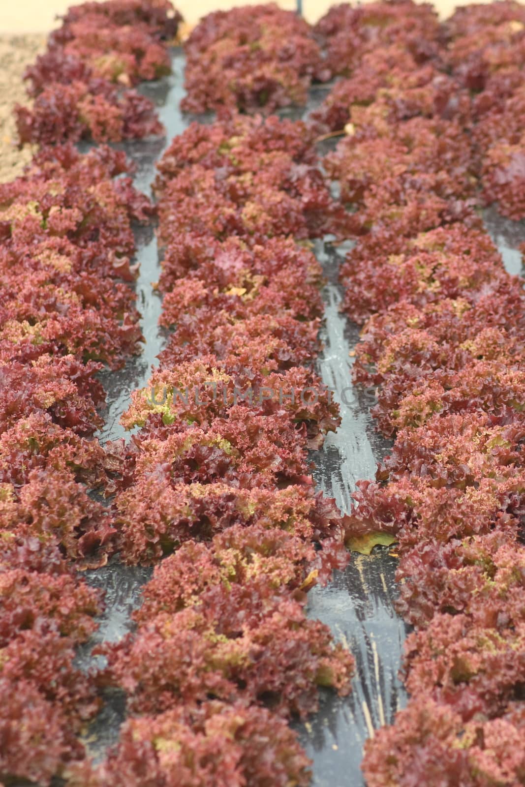
<instances>
[{"instance_id":1,"label":"all the shiny black plastic mulch film showing between lettuce rows","mask_svg":"<svg viewBox=\"0 0 525 787\"><path fill-rule=\"evenodd\" d=\"M135 186L148 194L155 176L155 164L174 136L181 134L195 118L183 115L179 104L183 98L184 54L172 50L172 75L156 83L145 83L139 90L157 104L164 139L122 143L138 169ZM305 109L287 110L283 116L302 117L320 104L331 85L312 87ZM211 116L198 118L203 123ZM323 143L329 146L330 143ZM319 152L323 153L321 146ZM509 273L521 273L521 255L517 250L525 240L525 226L485 212L487 230L502 254ZM161 298L153 291L160 266L153 227L141 228L137 237L136 282L137 307L142 313L142 332L146 344L139 357L128 360L120 371L102 373L107 391L107 406L102 416L105 427L98 433L102 443L123 437L119 419L127 408L131 392L146 385L151 364L163 347L166 335L157 325ZM313 477L318 489L335 501L342 512L350 506L350 495L360 478L374 478L375 467L388 453L390 442L374 430L370 394L352 385L349 353L358 341L358 328L339 311L342 288L338 285L338 265L348 246L338 249L330 242L317 241L315 253L324 268L327 286L323 291L325 320L320 338L324 351L318 361L323 381L338 393L342 423L337 432L327 434L322 449L312 452ZM353 691L344 698L321 690L320 711L301 724L294 724L299 741L312 759L312 787L360 787L362 749L374 729L392 722L404 707L405 689L397 677L401 652L408 626L394 611L397 589L394 579L397 560L394 549L376 547L371 556L353 554L346 571L335 572L325 588L314 587L308 596L309 617L330 626L336 640L349 647L357 663ZM105 590L105 612L99 629L79 652L79 663L93 663L91 649L101 641L117 641L131 629L131 611L140 604L140 588L148 581L152 569L126 567L114 559L105 567L87 572L87 582ZM102 759L109 745L116 743L125 716L124 693L105 693L105 704L91 723L85 743L95 759Z\"/></svg>"}]
</instances>

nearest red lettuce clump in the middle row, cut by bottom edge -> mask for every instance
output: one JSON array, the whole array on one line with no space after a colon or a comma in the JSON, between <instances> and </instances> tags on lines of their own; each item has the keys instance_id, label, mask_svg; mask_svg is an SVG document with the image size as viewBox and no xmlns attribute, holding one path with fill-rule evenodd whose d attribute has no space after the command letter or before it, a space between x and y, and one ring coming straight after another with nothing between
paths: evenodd
<instances>
[{"instance_id":1,"label":"nearest red lettuce clump in the middle row, cut by bottom edge","mask_svg":"<svg viewBox=\"0 0 525 787\"><path fill-rule=\"evenodd\" d=\"M131 717L100 767L68 768L75 787L298 787L309 760L283 719L264 708L209 700Z\"/></svg>"}]
</instances>

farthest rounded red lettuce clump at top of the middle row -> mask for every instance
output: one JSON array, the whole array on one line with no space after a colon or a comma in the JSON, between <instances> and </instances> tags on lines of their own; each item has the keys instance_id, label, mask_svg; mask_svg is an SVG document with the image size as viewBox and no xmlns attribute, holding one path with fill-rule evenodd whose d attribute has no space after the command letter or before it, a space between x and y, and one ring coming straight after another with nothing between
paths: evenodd
<instances>
[{"instance_id":1,"label":"farthest rounded red lettuce clump at top of the middle row","mask_svg":"<svg viewBox=\"0 0 525 787\"><path fill-rule=\"evenodd\" d=\"M216 11L185 44L187 112L227 107L271 113L305 104L312 79L330 70L308 24L274 4Z\"/></svg>"}]
</instances>

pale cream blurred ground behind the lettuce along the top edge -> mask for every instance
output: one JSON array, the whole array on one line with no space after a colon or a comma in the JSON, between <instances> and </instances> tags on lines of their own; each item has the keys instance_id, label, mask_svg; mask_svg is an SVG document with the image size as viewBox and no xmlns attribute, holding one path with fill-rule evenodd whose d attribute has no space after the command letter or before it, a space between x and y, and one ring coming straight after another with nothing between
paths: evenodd
<instances>
[{"instance_id":1,"label":"pale cream blurred ground behind the lettuce along the top edge","mask_svg":"<svg viewBox=\"0 0 525 787\"><path fill-rule=\"evenodd\" d=\"M55 17L64 13L68 6L77 5L80 0L0 0L0 31L2 33L47 32L56 25ZM246 0L174 0L188 24L195 24L200 17L210 11L227 10L234 6L245 6ZM256 5L261 0L253 0ZM302 0L303 16L309 22L316 22L333 0ZM468 0L436 0L434 6L442 17L447 17L456 6L468 5ZM294 9L295 0L282 0L279 6Z\"/></svg>"}]
</instances>

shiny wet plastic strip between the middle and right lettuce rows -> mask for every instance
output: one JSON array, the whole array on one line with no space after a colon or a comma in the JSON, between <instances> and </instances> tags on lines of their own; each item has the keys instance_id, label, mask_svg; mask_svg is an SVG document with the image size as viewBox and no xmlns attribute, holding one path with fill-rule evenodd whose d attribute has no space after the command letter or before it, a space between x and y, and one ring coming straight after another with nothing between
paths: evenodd
<instances>
[{"instance_id":1,"label":"shiny wet plastic strip between the middle and right lettuce rows","mask_svg":"<svg viewBox=\"0 0 525 787\"><path fill-rule=\"evenodd\" d=\"M323 449L312 453L316 464L313 476L316 486L348 512L356 482L374 477L376 464L388 453L390 442L374 430L372 399L354 388L350 379L349 353L359 333L339 312L342 288L338 266L342 257L327 243L316 244L315 250L328 282L323 291L326 315L319 370L326 385L335 390L342 423L337 432L327 435ZM406 627L392 606L396 562L385 548L376 548L372 556L353 554L346 571L337 572L334 582L325 588L314 587L309 593L309 616L327 623L357 662L352 693L339 699L323 692L320 711L297 727L313 760L312 784L316 787L363 784L360 760L364 741L373 728L390 722L405 703L397 671Z\"/></svg>"}]
</instances>

